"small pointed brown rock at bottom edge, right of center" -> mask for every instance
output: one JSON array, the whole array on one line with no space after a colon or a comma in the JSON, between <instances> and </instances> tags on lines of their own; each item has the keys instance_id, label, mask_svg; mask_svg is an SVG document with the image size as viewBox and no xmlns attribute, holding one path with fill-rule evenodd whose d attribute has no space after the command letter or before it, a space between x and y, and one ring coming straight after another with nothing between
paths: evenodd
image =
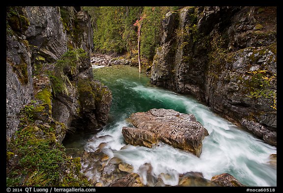
<instances>
[{"instance_id":1,"label":"small pointed brown rock at bottom edge, right of center","mask_svg":"<svg viewBox=\"0 0 283 193\"><path fill-rule=\"evenodd\" d=\"M234 176L228 173L215 175L211 178L211 181L216 182L220 186L227 186L227 187L244 186Z\"/></svg>"}]
</instances>

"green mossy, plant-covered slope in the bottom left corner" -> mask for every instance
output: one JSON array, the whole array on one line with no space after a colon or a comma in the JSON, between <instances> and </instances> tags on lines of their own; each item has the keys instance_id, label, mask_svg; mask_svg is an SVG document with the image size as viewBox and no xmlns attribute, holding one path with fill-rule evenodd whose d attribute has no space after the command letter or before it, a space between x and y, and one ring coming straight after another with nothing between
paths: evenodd
<instances>
[{"instance_id":1,"label":"green mossy, plant-covered slope in the bottom left corner","mask_svg":"<svg viewBox=\"0 0 283 193\"><path fill-rule=\"evenodd\" d=\"M89 186L80 173L80 160L66 155L54 129L34 124L20 127L7 145L7 155L7 163L14 155L18 160L11 162L7 186Z\"/></svg>"}]
</instances>

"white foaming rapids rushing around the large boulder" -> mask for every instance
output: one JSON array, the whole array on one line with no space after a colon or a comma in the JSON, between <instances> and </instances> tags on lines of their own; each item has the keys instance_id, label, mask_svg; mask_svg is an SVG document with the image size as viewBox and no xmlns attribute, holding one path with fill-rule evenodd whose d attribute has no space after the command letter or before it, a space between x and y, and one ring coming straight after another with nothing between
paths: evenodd
<instances>
[{"instance_id":1,"label":"white foaming rapids rushing around the large boulder","mask_svg":"<svg viewBox=\"0 0 283 193\"><path fill-rule=\"evenodd\" d=\"M200 157L164 143L152 148L126 145L121 128L130 124L124 116L95 135L86 144L87 151L95 151L99 144L106 143L104 153L132 165L134 172L142 176L143 183L148 181L148 171L142 169L147 163L152 167L151 175L162 178L169 185L177 185L179 174L190 171L201 172L207 179L227 172L247 186L277 185L276 169L267 164L270 154L276 154L276 147L238 129L195 99L139 83L128 83L127 87L144 100L164 103L167 109L193 113L209 132L209 136L203 139ZM170 177L162 174L169 174Z\"/></svg>"}]
</instances>

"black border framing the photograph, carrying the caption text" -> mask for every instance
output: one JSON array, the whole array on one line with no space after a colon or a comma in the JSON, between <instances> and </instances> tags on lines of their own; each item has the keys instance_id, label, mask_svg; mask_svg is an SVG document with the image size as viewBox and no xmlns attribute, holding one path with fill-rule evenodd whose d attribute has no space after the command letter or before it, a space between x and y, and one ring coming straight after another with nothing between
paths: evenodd
<instances>
[{"instance_id":1,"label":"black border framing the photograph, carrying the caption text","mask_svg":"<svg viewBox=\"0 0 283 193\"><path fill-rule=\"evenodd\" d=\"M277 15L277 53L279 54L279 57L277 57L277 63L279 64L279 67L281 67L282 65L282 7L280 6L281 1L280 0L264 0L264 1L248 1L248 0L238 0L238 1L223 1L223 0L170 0L170 1L157 1L157 0L131 0L131 1L124 1L124 0L104 0L104 1L95 1L95 0L77 0L77 1L71 1L71 0L57 0L57 1L52 1L52 0L44 0L44 1L27 1L27 0L22 0L22 1L16 1L16 0L10 0L10 1L5 1L4 2L6 6L276 6L277 10L278 10L278 15ZM4 10L4 6L2 6L3 11L1 11L1 13L3 14L1 18L5 18L6 16L4 16L5 14L5 10ZM4 24L4 21L1 22L2 24ZM3 41L4 41L4 32L5 28L2 28L2 33L3 33ZM3 45L4 46L4 45ZM4 57L3 57L4 58ZM282 100L281 96L282 96L282 89L281 89L281 83L282 82L282 71L280 71L281 68L278 68L278 73L277 73L277 79L278 79L278 87L279 89L277 89L277 113L279 113L279 117L281 116L281 111L282 111ZM2 76L2 78L4 79L5 76ZM6 91L5 91L6 92ZM4 99L3 99L3 103L4 103ZM280 120L280 118L279 118ZM4 126L3 122L3 126ZM279 130L278 132L278 136L280 137L278 140L278 145L277 145L277 151L279 152L279 156L277 155L277 159L279 160L279 163L281 163L280 160L282 160L282 148L281 148L281 136L282 136L282 128L281 128L281 121L278 122L278 127ZM5 131L5 129L2 128L2 131ZM5 136L4 133L1 136ZM5 141L4 139L2 141ZM6 147L5 144L3 144L4 147ZM280 164L277 167L277 170L280 170ZM5 181L4 178L4 174L5 172L5 168L4 165L2 165L2 172L3 175L3 181ZM280 176L281 173L278 173L278 176ZM7 188L12 189L17 189L17 190L22 190L21 193L26 193L25 189L27 187L5 187L4 190L5 192L8 193ZM48 188L49 193L51 190L51 187L38 187L38 188ZM71 187L56 187L56 188L60 188L60 189L68 189ZM79 188L79 187L75 187L75 188ZM137 190L135 187L122 187L121 189L119 187L81 187L82 189L95 189L95 193L102 193L104 191L123 191L123 192L127 192L127 191L135 191ZM275 189L275 192L278 192L279 190L281 190L282 188L282 183L280 183L280 181L278 181L277 183L277 187L139 187L138 191L146 191L149 190L148 188L150 188L150 190L154 189L156 190L161 190L161 191L188 191L188 192L203 192L203 191L217 191L217 192L225 192L227 193L228 191L236 191L237 193L247 193L247 189L253 189L254 191L249 191L249 192L263 192L264 189ZM166 188L166 189L164 189ZM118 190L117 190L118 189ZM172 190L173 189L173 190ZM12 191L11 191L12 192ZM54 191L52 191L54 193ZM268 191L268 192L273 192L273 191ZM32 193L32 192L31 192Z\"/></svg>"}]
</instances>

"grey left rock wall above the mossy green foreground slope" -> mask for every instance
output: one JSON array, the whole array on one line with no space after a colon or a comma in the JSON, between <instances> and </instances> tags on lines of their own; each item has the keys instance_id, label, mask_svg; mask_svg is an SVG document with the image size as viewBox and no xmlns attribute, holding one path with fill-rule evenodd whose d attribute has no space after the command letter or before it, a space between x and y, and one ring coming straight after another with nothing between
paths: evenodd
<instances>
[{"instance_id":1,"label":"grey left rock wall above the mossy green foreground slope","mask_svg":"<svg viewBox=\"0 0 283 193\"><path fill-rule=\"evenodd\" d=\"M18 115L25 105L46 102L37 96L45 89L49 95L44 97L50 104L34 113L37 121L77 129L100 129L106 124L112 95L93 80L93 36L86 11L77 12L74 7L8 7L6 37L7 138L17 131ZM73 64L68 66L67 59ZM66 133L60 125L56 126L58 141Z\"/></svg>"}]
</instances>

